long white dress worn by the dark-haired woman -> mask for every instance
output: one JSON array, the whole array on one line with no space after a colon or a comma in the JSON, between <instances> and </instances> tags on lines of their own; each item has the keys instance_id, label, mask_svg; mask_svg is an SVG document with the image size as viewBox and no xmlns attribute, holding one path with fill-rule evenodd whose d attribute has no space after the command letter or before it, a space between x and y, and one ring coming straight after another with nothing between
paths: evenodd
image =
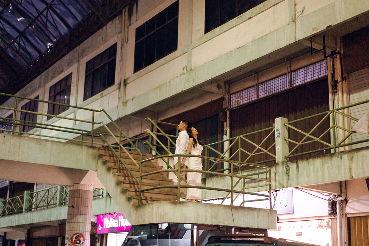
<instances>
[{"instance_id":1,"label":"long white dress worn by the dark-haired woman","mask_svg":"<svg viewBox=\"0 0 369 246\"><path fill-rule=\"evenodd\" d=\"M196 148L191 148L191 155L201 155L203 151L202 145L197 145ZM202 170L203 165L201 163L201 158L190 157L188 161L188 169ZM202 173L187 172L187 185L189 186L201 186ZM201 189L197 188L187 188L187 199L199 200L201 199Z\"/></svg>"}]
</instances>

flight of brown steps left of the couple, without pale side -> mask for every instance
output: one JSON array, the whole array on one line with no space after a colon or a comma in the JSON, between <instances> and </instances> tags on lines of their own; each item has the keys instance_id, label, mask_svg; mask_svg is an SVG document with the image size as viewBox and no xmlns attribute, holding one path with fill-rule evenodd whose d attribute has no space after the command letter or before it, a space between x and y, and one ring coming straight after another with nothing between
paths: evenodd
<instances>
[{"instance_id":1,"label":"flight of brown steps left of the couple, without pale side","mask_svg":"<svg viewBox=\"0 0 369 246\"><path fill-rule=\"evenodd\" d=\"M118 150L116 150L118 152ZM130 155L140 163L140 155L137 152L129 152ZM139 185L137 181L131 176L128 170L124 167L123 163L120 163L118 157L109 148L100 147L99 154L103 156L103 163L106 169L111 173L113 180L116 180L117 188L127 194L128 199L133 200L133 204L138 204L138 190ZM142 154L143 159L149 159L153 157L151 154ZM139 180L139 168L128 157L128 155L122 150L121 159L132 171L132 173ZM118 173L118 163L120 163L120 173ZM162 170L162 166L158 166L156 160L150 162L144 162L142 167L142 173L148 173L152 171ZM142 189L152 188L156 186L173 185L172 179L166 178L166 173L157 173L142 178ZM177 188L161 188L157 190L145 191L141 194L141 203L148 203L154 201L173 201L177 199Z\"/></svg>"}]
</instances>

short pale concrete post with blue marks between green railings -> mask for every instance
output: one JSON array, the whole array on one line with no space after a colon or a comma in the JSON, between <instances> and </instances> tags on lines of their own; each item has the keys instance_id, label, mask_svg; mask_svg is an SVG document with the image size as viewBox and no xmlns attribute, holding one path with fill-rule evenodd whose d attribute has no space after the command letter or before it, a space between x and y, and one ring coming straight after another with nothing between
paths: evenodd
<instances>
[{"instance_id":1,"label":"short pale concrete post with blue marks between green railings","mask_svg":"<svg viewBox=\"0 0 369 246\"><path fill-rule=\"evenodd\" d=\"M289 153L288 149L288 129L284 125L288 122L287 118L276 118L275 131L276 131L276 163L287 162L286 156Z\"/></svg>"}]
</instances>

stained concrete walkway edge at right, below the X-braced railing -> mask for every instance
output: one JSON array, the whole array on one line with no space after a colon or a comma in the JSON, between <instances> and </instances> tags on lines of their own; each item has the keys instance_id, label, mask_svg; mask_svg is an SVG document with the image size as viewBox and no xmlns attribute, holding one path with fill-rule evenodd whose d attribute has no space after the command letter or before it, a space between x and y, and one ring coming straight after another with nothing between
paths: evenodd
<instances>
[{"instance_id":1,"label":"stained concrete walkway edge at right, below the X-braced railing","mask_svg":"<svg viewBox=\"0 0 369 246\"><path fill-rule=\"evenodd\" d=\"M251 169L239 174L255 172L255 169ZM369 177L369 147L276 164L272 166L271 173L272 190ZM235 181L237 180L235 179ZM206 180L206 186L229 187L230 178L211 177ZM241 186L236 188L241 189ZM258 188L248 191L256 192L266 189ZM220 191L203 191L203 199L224 197L225 195L224 192Z\"/></svg>"}]
</instances>

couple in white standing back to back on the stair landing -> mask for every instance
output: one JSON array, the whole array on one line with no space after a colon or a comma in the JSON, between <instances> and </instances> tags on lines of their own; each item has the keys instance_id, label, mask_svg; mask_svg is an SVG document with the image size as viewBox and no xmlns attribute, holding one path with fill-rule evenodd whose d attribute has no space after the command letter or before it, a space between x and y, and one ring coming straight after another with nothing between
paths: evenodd
<instances>
[{"instance_id":1,"label":"couple in white standing back to back on the stair landing","mask_svg":"<svg viewBox=\"0 0 369 246\"><path fill-rule=\"evenodd\" d=\"M178 138L176 140L176 155L191 154L201 155L203 146L197 139L197 130L191 127L191 123L187 120L182 120L178 125ZM178 168L178 156L174 157L174 168ZM182 157L181 169L202 170L201 158L199 157ZM180 185L201 186L202 173L197 172L181 172ZM180 201L196 202L201 199L201 189L198 188L180 188Z\"/></svg>"}]
</instances>

